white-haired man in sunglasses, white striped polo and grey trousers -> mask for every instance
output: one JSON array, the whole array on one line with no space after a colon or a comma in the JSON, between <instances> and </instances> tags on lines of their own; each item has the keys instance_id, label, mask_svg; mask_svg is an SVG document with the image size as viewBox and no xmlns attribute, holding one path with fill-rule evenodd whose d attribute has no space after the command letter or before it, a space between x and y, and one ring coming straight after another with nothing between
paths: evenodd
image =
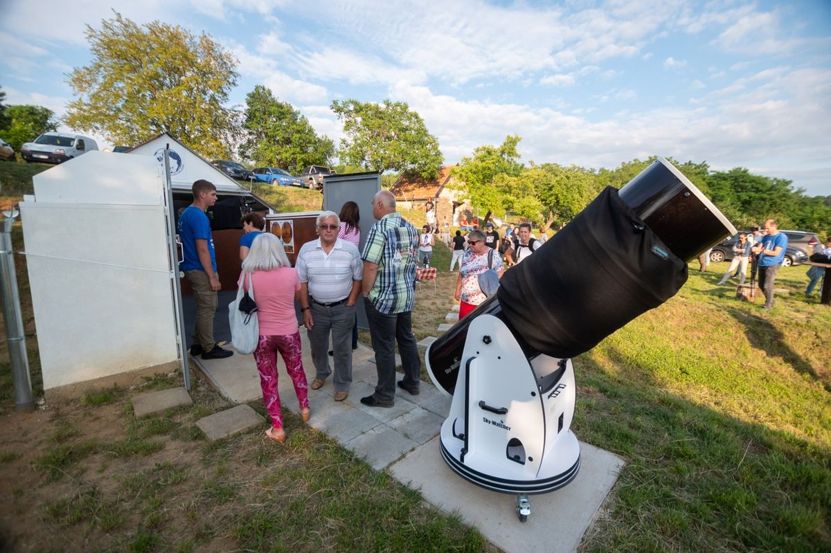
<instances>
[{"instance_id":1,"label":"white-haired man in sunglasses, white striped polo and grey trousers","mask_svg":"<svg viewBox=\"0 0 831 553\"><path fill-rule=\"evenodd\" d=\"M327 353L331 332L335 401L343 401L352 384L352 326L363 262L354 244L337 237L341 226L337 213L322 212L316 224L319 238L303 244L295 262L300 276L300 311L316 372L312 389L321 388L332 374Z\"/></svg>"}]
</instances>

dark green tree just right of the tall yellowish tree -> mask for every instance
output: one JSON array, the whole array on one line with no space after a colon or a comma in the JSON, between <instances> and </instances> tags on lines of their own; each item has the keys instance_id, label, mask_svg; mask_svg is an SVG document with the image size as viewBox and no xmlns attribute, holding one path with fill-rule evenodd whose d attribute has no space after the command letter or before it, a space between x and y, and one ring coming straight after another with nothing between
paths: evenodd
<instances>
[{"instance_id":1,"label":"dark green tree just right of the tall yellowish tree","mask_svg":"<svg viewBox=\"0 0 831 553\"><path fill-rule=\"evenodd\" d=\"M265 86L255 86L245 98L248 138L239 147L244 159L254 164L286 169L298 174L309 165L328 165L334 143L317 136L312 125L288 102L281 102Z\"/></svg>"}]
</instances>

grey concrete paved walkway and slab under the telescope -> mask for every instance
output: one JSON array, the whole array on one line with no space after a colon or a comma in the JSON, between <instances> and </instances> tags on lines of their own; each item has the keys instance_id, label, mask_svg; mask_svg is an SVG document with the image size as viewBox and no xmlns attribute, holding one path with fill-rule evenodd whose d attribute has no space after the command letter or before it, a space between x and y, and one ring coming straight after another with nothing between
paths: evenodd
<instances>
[{"instance_id":1,"label":"grey concrete paved walkway and slab under the telescope","mask_svg":"<svg viewBox=\"0 0 831 553\"><path fill-rule=\"evenodd\" d=\"M315 371L305 335L302 343L303 367L311 382ZM194 361L234 403L262 397L251 355ZM279 371L283 408L298 414L297 396L282 360ZM416 396L396 389L396 404L391 409L367 407L360 399L372 393L376 381L374 354L360 345L352 365L349 397L336 402L331 379L321 389L309 389L312 418L308 424L336 439L376 470L388 469L399 482L420 489L427 502L448 512L458 511L465 522L504 551L574 551L623 466L616 455L582 443L578 477L562 490L533 496L529 521L521 523L515 513L514 496L488 492L466 482L441 459L437 436L450 412L450 396L422 382L421 393Z\"/></svg>"}]
</instances>

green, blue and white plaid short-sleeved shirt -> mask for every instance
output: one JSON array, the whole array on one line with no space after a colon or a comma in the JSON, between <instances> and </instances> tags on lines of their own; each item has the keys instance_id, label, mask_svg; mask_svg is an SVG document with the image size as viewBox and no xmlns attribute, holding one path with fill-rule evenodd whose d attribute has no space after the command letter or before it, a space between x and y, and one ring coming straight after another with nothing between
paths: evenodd
<instances>
[{"instance_id":1,"label":"green, blue and white plaid short-sleeved shirt","mask_svg":"<svg viewBox=\"0 0 831 553\"><path fill-rule=\"evenodd\" d=\"M368 299L379 312L413 310L417 251L418 230L398 213L387 213L369 229L361 258L378 266Z\"/></svg>"}]
</instances>

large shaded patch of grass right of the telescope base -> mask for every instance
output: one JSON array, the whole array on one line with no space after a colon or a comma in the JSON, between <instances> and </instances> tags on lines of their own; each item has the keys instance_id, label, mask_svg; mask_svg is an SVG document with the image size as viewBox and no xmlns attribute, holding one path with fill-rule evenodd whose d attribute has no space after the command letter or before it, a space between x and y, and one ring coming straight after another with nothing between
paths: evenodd
<instances>
[{"instance_id":1,"label":"large shaded patch of grass right of the telescope base","mask_svg":"<svg viewBox=\"0 0 831 553\"><path fill-rule=\"evenodd\" d=\"M627 465L583 551L829 551L827 449L696 404L598 347L631 369L580 356L572 428Z\"/></svg>"}]
</instances>

